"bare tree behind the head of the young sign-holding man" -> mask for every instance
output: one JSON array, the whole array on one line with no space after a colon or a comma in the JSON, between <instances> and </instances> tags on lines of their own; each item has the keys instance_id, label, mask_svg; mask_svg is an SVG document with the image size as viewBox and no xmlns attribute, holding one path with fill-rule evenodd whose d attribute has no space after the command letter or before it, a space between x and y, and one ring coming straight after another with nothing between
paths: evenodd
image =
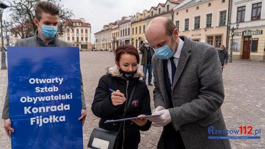
<instances>
[{"instance_id":1,"label":"bare tree behind the head of the young sign-holding man","mask_svg":"<svg viewBox=\"0 0 265 149\"><path fill-rule=\"evenodd\" d=\"M35 18L35 5L42 0L9 0L9 11L11 25L9 29L12 33L18 34L21 38L34 35L37 26L32 22ZM74 16L71 10L61 4L61 0L47 0L58 6L60 10L59 21L67 26L73 27L70 20Z\"/></svg>"}]
</instances>

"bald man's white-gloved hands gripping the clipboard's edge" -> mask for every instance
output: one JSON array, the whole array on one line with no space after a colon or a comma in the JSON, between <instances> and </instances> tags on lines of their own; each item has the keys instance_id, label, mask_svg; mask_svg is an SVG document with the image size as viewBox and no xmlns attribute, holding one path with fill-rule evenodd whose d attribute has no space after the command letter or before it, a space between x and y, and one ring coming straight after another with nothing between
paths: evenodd
<instances>
[{"instance_id":1,"label":"bald man's white-gloved hands gripping the clipboard's edge","mask_svg":"<svg viewBox=\"0 0 265 149\"><path fill-rule=\"evenodd\" d=\"M156 127L165 126L172 121L168 109L164 109L164 107L162 107L162 108L161 107L158 106L157 107L158 109L156 108L154 110L154 113L152 114L152 115L162 114L161 116L148 118L148 120L153 122L152 123L153 126L156 126Z\"/></svg>"}]
</instances>

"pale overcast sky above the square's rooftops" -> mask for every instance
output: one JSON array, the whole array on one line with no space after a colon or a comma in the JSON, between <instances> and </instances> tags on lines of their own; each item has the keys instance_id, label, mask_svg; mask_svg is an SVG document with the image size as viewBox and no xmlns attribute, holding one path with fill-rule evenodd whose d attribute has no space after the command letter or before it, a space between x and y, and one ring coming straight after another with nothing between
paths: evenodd
<instances>
[{"instance_id":1,"label":"pale overcast sky above the square's rooftops","mask_svg":"<svg viewBox=\"0 0 265 149\"><path fill-rule=\"evenodd\" d=\"M121 20L123 16L142 13L152 6L165 3L166 0L61 0L65 8L73 11L74 18L84 18L91 25L91 43L95 41L94 33L101 31L103 25Z\"/></svg>"}]
</instances>

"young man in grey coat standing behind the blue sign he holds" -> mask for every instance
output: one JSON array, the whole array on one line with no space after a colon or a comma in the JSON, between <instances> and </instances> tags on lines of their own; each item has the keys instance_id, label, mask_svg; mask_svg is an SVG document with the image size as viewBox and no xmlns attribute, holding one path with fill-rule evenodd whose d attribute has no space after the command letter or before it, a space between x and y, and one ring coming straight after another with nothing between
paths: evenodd
<instances>
[{"instance_id":1,"label":"young man in grey coat standing behind the blue sign he holds","mask_svg":"<svg viewBox=\"0 0 265 149\"><path fill-rule=\"evenodd\" d=\"M35 35L33 37L19 40L15 43L15 47L73 47L71 44L58 39L56 36L58 21L59 9L56 5L48 1L38 2L35 8L35 19L33 20L35 25L38 26ZM86 105L83 93L82 76L80 76L80 80L82 109L79 121L82 121L82 124L84 124L86 118ZM7 136L10 137L10 132L14 132L15 130L12 128L9 119L8 87L4 101L2 119L4 119L5 132Z\"/></svg>"}]
</instances>

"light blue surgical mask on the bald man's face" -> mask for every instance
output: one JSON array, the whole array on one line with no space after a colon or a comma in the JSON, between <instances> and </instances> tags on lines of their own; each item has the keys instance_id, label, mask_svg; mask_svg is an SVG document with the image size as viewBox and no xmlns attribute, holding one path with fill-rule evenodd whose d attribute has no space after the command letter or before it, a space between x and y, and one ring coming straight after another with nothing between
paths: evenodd
<instances>
[{"instance_id":1,"label":"light blue surgical mask on the bald man's face","mask_svg":"<svg viewBox=\"0 0 265 149\"><path fill-rule=\"evenodd\" d=\"M168 43L170 43L171 39L172 39L172 36L173 36L173 33L170 37L170 40ZM154 51L156 52L157 56L160 58L160 59L169 59L171 58L174 53L175 53L175 48L176 48L176 43L175 42L175 46L174 46L174 49L173 50L170 50L168 44L164 45L163 47L160 47L158 49L154 49Z\"/></svg>"}]
</instances>

